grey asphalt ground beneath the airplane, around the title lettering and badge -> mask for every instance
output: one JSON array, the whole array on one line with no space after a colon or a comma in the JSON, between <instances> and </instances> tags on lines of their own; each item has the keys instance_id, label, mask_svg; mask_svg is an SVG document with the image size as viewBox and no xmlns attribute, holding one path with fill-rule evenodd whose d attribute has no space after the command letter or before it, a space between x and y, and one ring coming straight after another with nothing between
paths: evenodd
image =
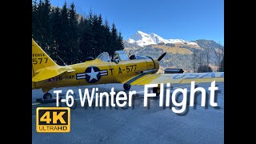
<instances>
[{"instance_id":1,"label":"grey asphalt ground beneath the airplane, around the title lettering and badge","mask_svg":"<svg viewBox=\"0 0 256 144\"><path fill-rule=\"evenodd\" d=\"M201 94L198 94L195 105L189 106L188 102L183 114L175 114L170 108L172 105L159 106L159 98L150 98L150 105L143 106L144 86L131 87L130 91L138 92L131 107L82 107L77 100L77 107L70 110L70 133L58 134L36 131L36 108L56 106L56 103L38 104L35 101L36 98L42 98L42 90L32 90L32 143L224 143L224 83L217 84L217 107L210 106L208 97L206 106L201 106ZM173 86L171 93L176 88L190 90L188 84ZM210 94L210 83L200 83L198 86ZM66 90L72 89L76 93L75 98L79 98L78 89L91 90L94 87L98 87L99 92L110 92L112 87L116 92L123 90L122 84L75 86L54 90L62 90L66 94ZM53 94L53 90L50 92ZM178 102L181 101L182 96L179 96Z\"/></svg>"}]
</instances>

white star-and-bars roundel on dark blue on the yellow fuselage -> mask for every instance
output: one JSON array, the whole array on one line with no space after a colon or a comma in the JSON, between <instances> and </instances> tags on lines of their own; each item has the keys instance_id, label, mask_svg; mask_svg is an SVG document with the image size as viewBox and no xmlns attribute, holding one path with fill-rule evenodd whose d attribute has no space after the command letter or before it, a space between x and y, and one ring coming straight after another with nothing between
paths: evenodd
<instances>
[{"instance_id":1,"label":"white star-and-bars roundel on dark blue on the yellow fuselage","mask_svg":"<svg viewBox=\"0 0 256 144\"><path fill-rule=\"evenodd\" d=\"M107 70L99 70L96 66L87 67L85 73L76 74L78 80L85 78L89 83L98 82L104 75L108 75Z\"/></svg>"}]
</instances>

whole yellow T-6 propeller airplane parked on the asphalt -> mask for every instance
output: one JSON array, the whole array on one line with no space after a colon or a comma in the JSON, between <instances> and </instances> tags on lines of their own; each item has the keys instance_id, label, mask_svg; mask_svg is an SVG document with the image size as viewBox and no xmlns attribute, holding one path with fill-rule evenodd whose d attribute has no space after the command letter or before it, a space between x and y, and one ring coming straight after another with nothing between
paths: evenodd
<instances>
[{"instance_id":1,"label":"whole yellow T-6 propeller airplane parked on the asphalt","mask_svg":"<svg viewBox=\"0 0 256 144\"><path fill-rule=\"evenodd\" d=\"M44 99L52 98L48 91L65 86L84 86L108 83L122 83L124 90L131 85L160 83L224 82L222 73L193 74L156 74L159 69L158 59L149 56L138 56L133 51L127 54L124 50L114 52L110 59L107 52L97 58L87 58L86 62L69 66L58 66L52 58L32 38L32 90L42 89ZM158 85L159 86L159 85ZM159 87L153 93L159 94Z\"/></svg>"}]
</instances>

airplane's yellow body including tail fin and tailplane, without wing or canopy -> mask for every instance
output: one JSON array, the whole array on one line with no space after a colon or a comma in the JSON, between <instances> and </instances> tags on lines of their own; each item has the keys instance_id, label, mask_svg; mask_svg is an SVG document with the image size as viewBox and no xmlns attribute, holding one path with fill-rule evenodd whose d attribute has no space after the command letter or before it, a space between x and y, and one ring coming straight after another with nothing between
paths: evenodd
<instances>
[{"instance_id":1,"label":"airplane's yellow body including tail fin and tailplane, without wing or canopy","mask_svg":"<svg viewBox=\"0 0 256 144\"><path fill-rule=\"evenodd\" d=\"M124 83L145 70L154 69L154 63L150 58L118 63L96 58L58 66L32 39L32 89L42 88L47 92L55 87Z\"/></svg>"}]
</instances>

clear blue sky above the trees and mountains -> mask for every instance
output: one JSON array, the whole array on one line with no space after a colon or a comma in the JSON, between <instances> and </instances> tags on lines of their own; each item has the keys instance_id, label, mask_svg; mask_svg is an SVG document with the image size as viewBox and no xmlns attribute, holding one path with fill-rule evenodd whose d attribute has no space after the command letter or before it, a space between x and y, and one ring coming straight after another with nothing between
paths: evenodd
<instances>
[{"instance_id":1,"label":"clear blue sky above the trees and mountains","mask_svg":"<svg viewBox=\"0 0 256 144\"><path fill-rule=\"evenodd\" d=\"M65 0L50 0L63 6ZM224 0L66 0L78 14L89 10L115 23L123 39L137 30L162 38L214 40L224 45Z\"/></svg>"}]
</instances>

